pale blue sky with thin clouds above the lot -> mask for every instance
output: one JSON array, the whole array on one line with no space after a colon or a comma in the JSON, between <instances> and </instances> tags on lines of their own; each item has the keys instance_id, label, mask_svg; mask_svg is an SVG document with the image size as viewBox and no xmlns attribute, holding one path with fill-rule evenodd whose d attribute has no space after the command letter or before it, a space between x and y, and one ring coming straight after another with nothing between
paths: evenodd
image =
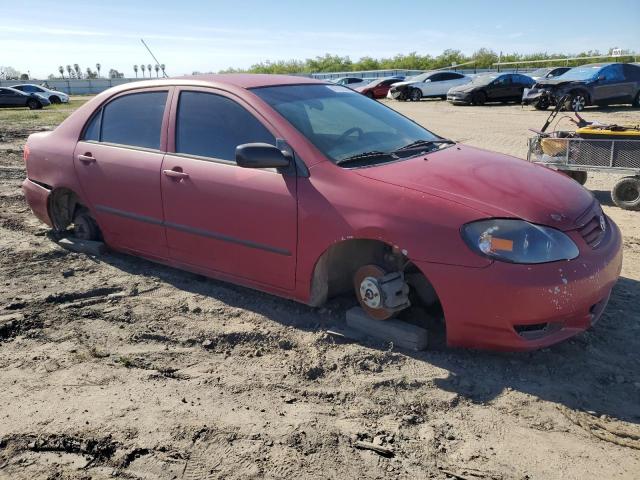
<instances>
[{"instance_id":1,"label":"pale blue sky with thin clouds above the lot","mask_svg":"<svg viewBox=\"0 0 640 480\"><path fill-rule=\"evenodd\" d=\"M134 76L243 68L325 53L388 57L453 48L496 52L640 52L640 0L0 0L0 66L35 78L59 65Z\"/></svg>"}]
</instances>

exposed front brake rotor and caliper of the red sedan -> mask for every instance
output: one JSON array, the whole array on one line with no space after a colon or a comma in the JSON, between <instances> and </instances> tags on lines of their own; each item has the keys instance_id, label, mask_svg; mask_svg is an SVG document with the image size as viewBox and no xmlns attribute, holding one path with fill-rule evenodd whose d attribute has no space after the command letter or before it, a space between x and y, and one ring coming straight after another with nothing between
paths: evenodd
<instances>
[{"instance_id":1,"label":"exposed front brake rotor and caliper of the red sedan","mask_svg":"<svg viewBox=\"0 0 640 480\"><path fill-rule=\"evenodd\" d=\"M388 320L409 304L409 287L400 272L387 274L377 265L360 267L354 276L356 297L371 318Z\"/></svg>"}]
</instances>

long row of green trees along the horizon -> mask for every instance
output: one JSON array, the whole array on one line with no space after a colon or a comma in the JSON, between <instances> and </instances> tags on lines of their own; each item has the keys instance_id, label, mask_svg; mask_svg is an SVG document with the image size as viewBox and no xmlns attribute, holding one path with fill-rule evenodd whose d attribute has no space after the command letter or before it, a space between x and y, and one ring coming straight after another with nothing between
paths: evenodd
<instances>
[{"instance_id":1,"label":"long row of green trees along the horizon","mask_svg":"<svg viewBox=\"0 0 640 480\"><path fill-rule=\"evenodd\" d=\"M628 51L623 52L627 55L622 59L628 59L631 54ZM389 58L373 58L362 57L359 60L351 60L348 56L325 54L315 58L307 58L306 60L277 60L256 63L249 68L228 68L220 73L316 73L316 72L352 72L361 70L434 70L437 68L446 68L454 65L465 65L465 68L494 68L493 64L501 62L526 62L531 60L548 60L548 64L554 64L561 58L567 57L592 57L604 55L598 50L589 50L579 54L565 53L507 53L498 54L488 48L481 48L472 55L465 55L460 50L447 49L438 56L420 55L417 52L409 54L398 54ZM607 52L611 55L611 50ZM568 62L568 66L582 65L588 63L589 60L573 60ZM536 66L546 66L547 62L535 64Z\"/></svg>"}]
</instances>

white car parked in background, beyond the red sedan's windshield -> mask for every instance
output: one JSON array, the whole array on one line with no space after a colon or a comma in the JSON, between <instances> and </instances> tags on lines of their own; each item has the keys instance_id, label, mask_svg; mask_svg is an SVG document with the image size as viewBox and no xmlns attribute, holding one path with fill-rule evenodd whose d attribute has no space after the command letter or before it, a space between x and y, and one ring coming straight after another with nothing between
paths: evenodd
<instances>
[{"instance_id":1,"label":"white car parked in background, beyond the red sedan's windshield","mask_svg":"<svg viewBox=\"0 0 640 480\"><path fill-rule=\"evenodd\" d=\"M404 82L391 85L387 98L418 101L421 98L447 99L447 92L453 87L471 82L471 77L458 72L426 72L411 77Z\"/></svg>"}]
</instances>

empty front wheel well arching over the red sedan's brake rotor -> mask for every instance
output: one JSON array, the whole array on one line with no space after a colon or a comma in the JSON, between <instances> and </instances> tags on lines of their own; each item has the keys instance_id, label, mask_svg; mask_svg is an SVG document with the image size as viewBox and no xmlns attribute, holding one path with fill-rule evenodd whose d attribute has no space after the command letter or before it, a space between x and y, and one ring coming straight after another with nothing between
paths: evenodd
<instances>
[{"instance_id":1,"label":"empty front wheel well arching over the red sedan's brake rotor","mask_svg":"<svg viewBox=\"0 0 640 480\"><path fill-rule=\"evenodd\" d=\"M356 271L368 264L379 265L387 272L403 272L421 303L439 302L429 280L397 246L380 240L350 239L330 246L316 262L308 303L320 306L332 297L352 293Z\"/></svg>"}]
</instances>

